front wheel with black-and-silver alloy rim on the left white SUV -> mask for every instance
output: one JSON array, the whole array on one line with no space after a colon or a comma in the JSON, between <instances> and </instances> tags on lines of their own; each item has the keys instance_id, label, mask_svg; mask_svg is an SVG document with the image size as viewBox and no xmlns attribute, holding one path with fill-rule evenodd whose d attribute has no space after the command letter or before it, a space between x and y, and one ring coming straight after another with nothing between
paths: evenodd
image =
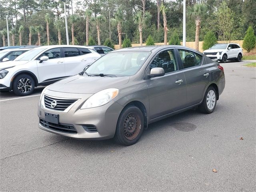
<instances>
[{"instance_id":1,"label":"front wheel with black-and-silver alloy rim on the left white SUV","mask_svg":"<svg viewBox=\"0 0 256 192\"><path fill-rule=\"evenodd\" d=\"M18 96L30 95L34 91L34 88L34 79L27 74L18 75L12 83L12 90Z\"/></svg>"}]
</instances>

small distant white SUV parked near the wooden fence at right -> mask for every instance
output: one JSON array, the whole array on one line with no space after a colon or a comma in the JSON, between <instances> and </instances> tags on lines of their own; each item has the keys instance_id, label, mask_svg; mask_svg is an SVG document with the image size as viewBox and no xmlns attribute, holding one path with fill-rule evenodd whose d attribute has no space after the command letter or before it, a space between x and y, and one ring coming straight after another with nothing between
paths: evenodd
<instances>
[{"instance_id":1,"label":"small distant white SUV parked near the wooden fence at right","mask_svg":"<svg viewBox=\"0 0 256 192\"><path fill-rule=\"evenodd\" d=\"M240 62L243 57L243 50L236 43L217 43L203 52L214 61L226 63L227 60L236 60Z\"/></svg>"}]
</instances>

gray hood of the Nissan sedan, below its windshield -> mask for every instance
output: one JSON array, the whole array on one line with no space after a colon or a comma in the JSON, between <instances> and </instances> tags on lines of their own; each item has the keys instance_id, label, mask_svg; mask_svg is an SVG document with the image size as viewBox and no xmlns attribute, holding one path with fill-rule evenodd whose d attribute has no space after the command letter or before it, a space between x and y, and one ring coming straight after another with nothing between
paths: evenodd
<instances>
[{"instance_id":1,"label":"gray hood of the Nissan sedan, below its windshield","mask_svg":"<svg viewBox=\"0 0 256 192\"><path fill-rule=\"evenodd\" d=\"M107 88L119 88L129 82L130 77L90 77L75 75L60 80L48 90L65 93L94 94Z\"/></svg>"}]
</instances>

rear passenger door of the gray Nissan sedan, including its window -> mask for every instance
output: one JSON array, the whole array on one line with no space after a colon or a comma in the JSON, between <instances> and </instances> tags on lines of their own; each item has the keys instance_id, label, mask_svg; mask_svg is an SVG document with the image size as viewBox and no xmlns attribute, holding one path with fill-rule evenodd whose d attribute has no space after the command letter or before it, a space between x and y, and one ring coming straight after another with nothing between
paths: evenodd
<instances>
[{"instance_id":1,"label":"rear passenger door of the gray Nissan sedan, including its window","mask_svg":"<svg viewBox=\"0 0 256 192\"><path fill-rule=\"evenodd\" d=\"M198 104L204 97L204 91L210 82L210 71L201 54L186 49L178 49L186 78L186 106Z\"/></svg>"}]
</instances>

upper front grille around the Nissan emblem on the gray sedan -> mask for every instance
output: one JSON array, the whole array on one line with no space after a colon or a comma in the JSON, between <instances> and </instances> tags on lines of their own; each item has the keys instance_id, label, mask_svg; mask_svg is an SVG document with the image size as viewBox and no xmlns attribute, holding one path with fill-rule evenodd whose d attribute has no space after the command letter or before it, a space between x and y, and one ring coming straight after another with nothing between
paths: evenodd
<instances>
[{"instance_id":1,"label":"upper front grille around the Nissan emblem on the gray sedan","mask_svg":"<svg viewBox=\"0 0 256 192\"><path fill-rule=\"evenodd\" d=\"M52 107L51 103L53 101L56 101L56 106ZM56 110L56 111L64 111L66 108L68 108L70 105L72 105L74 102L76 102L77 99L56 99L52 98L50 96L44 95L44 105L46 108Z\"/></svg>"}]
</instances>

